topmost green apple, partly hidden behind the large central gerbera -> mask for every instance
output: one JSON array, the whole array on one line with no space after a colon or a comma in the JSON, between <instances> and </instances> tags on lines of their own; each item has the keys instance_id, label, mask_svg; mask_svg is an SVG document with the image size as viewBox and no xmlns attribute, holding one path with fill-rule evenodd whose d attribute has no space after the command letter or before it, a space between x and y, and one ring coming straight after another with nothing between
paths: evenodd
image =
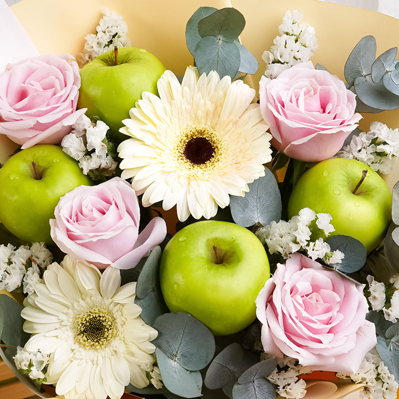
<instances>
[{"instance_id":1,"label":"topmost green apple, partly hidden behind the large central gerbera","mask_svg":"<svg viewBox=\"0 0 399 399\"><path fill-rule=\"evenodd\" d=\"M110 127L112 139L119 144L126 139L119 129L129 118L129 110L141 99L143 91L158 94L157 81L165 72L161 61L137 47L107 51L80 70L78 108L87 108L92 120L102 120Z\"/></svg>"}]
</instances>

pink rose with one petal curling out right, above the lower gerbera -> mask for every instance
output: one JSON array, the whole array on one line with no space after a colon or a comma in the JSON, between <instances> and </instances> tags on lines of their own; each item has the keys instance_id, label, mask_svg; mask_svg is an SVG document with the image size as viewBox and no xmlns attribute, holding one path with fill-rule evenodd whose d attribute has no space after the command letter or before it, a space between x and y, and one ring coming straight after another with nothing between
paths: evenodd
<instances>
[{"instance_id":1,"label":"pink rose with one petal curling out right, above the lower gerbera","mask_svg":"<svg viewBox=\"0 0 399 399\"><path fill-rule=\"evenodd\" d=\"M54 214L50 233L58 247L99 268L130 269L166 236L161 217L154 217L139 234L139 202L121 178L77 187L61 197Z\"/></svg>"}]
</instances>

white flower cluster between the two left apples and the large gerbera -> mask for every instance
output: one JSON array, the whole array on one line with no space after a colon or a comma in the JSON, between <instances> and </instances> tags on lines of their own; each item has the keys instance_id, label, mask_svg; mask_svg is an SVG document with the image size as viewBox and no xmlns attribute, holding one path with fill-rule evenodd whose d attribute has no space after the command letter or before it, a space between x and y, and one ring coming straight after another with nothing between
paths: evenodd
<instances>
[{"instance_id":1,"label":"white flower cluster between the two left apples and the large gerbera","mask_svg":"<svg viewBox=\"0 0 399 399\"><path fill-rule=\"evenodd\" d=\"M108 129L103 121L93 124L82 115L61 141L64 152L78 161L80 169L92 180L113 176L118 165L112 157L112 143L106 137Z\"/></svg>"}]
</instances>

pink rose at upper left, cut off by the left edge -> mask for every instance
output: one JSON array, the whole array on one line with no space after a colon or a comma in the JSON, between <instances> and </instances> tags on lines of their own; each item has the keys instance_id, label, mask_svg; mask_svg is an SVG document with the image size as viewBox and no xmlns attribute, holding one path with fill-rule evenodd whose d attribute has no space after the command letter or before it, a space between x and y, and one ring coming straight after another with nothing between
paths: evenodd
<instances>
[{"instance_id":1,"label":"pink rose at upper left, cut off by the left edge","mask_svg":"<svg viewBox=\"0 0 399 399\"><path fill-rule=\"evenodd\" d=\"M71 59L41 55L8 65L0 75L0 134L24 149L57 144L70 133L86 111L76 111L80 75Z\"/></svg>"}]
</instances>

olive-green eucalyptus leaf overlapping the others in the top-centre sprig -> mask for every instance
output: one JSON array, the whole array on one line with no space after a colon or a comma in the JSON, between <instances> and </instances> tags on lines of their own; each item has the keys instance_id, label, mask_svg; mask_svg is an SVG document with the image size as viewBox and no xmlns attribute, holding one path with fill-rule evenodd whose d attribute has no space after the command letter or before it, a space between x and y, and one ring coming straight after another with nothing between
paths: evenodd
<instances>
[{"instance_id":1,"label":"olive-green eucalyptus leaf overlapping the others in the top-centre sprig","mask_svg":"<svg viewBox=\"0 0 399 399\"><path fill-rule=\"evenodd\" d=\"M201 37L214 36L223 41L234 41L245 26L245 18L237 9L226 7L219 9L198 22Z\"/></svg>"}]
</instances>

